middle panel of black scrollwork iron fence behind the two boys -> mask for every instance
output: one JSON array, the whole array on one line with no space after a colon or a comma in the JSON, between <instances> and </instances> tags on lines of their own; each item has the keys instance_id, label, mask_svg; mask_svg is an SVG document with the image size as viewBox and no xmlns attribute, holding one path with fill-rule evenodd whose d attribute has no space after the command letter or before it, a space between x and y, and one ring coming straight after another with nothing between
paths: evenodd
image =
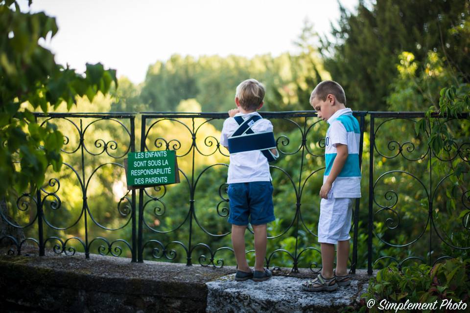
<instances>
[{"instance_id":1,"label":"middle panel of black scrollwork iron fence behind the two boys","mask_svg":"<svg viewBox=\"0 0 470 313\"><path fill-rule=\"evenodd\" d=\"M366 112L354 112L354 115L359 118L361 130L361 151L359 152L360 160L362 161L362 140L364 134L364 118ZM271 165L271 172L279 174L278 177L281 181L276 181L273 176L273 185L275 188L275 212L277 210L285 210L288 212L284 223L280 229L272 230L268 234L268 239L271 242L281 242L283 238L290 237L295 243L291 243L292 248L286 249L281 244L274 246L267 251L266 265L272 266L282 255L284 262L292 268L293 271L298 271L299 263L307 264L313 271L321 269L317 262L308 261L312 254L320 257L320 249L317 244L317 222L310 221L310 216L319 214L319 202L302 204L302 199L306 194L312 194L312 188L309 182L313 177L317 179L323 178L323 148L325 147L324 134L326 132L326 125L319 124L321 120L316 116L316 112L262 112L264 118L270 119L274 125L276 134L276 144L281 156L291 157L295 160L297 166L295 171L289 168L281 168L277 163ZM218 255L223 253L233 253L230 246L217 246L214 242L217 239L230 235L228 227L219 227L220 229L215 232L207 226L207 220L204 218L204 213L207 211L213 212L211 220L216 220L218 224L227 223L229 213L228 209L228 196L226 173L228 166L228 151L225 150L219 143L219 138L216 138L211 132L205 132L205 128L211 128L211 125L217 121L223 121L227 118L226 113L143 113L142 129L141 129L141 151L149 151L155 149L171 149L175 150L180 164L187 164L187 166L180 166L181 185L186 186L183 193L188 199L184 203L178 205L178 209L183 209L185 213L184 219L178 223L171 224L171 226L161 229L152 225L152 219L155 221L164 220L164 215L168 214L169 210L176 209L170 206L175 206L175 203L165 202L168 193L165 186L154 188L153 190L141 190L139 193L139 220L138 220L138 260L143 262L144 255L151 255L154 258L160 259L175 259L178 254L183 253L186 255L187 265L193 264L193 256L197 257L199 264L203 266L223 266L224 260ZM172 137L171 135L162 135L164 126L161 124L171 123L170 129L179 128L180 132L186 132L184 138L191 138L191 142L182 142L179 138ZM321 132L316 132L317 128L324 127ZM160 130L160 131L159 131ZM283 132L284 131L284 132ZM284 133L294 134L296 138L289 138ZM312 140L313 139L313 140ZM315 140L316 139L316 140ZM204 162L205 164L197 164L201 158L208 159L217 156L225 157L224 162ZM308 159L318 159L319 164L313 168L307 166ZM293 176L295 172L295 176ZM214 174L215 173L215 174ZM223 174L221 174L223 173ZM205 190L204 181L208 179L216 180L219 187L217 190ZM203 185L202 187L200 185ZM276 201L276 188L282 184L283 188L290 190L289 194L292 195L290 202ZM200 207L199 203L204 202L202 199L204 195L211 192L210 207ZM207 197L206 197L207 198ZM174 199L174 198L172 198ZM204 201L203 201L204 200ZM351 257L352 272L355 270L357 264L357 234L358 234L358 221L359 221L359 203L357 199L354 209L353 219L353 251ZM313 212L315 212L313 214ZM160 223L160 222L158 222ZM213 227L213 225L212 225ZM165 238L171 238L171 234L185 229L187 234L184 240L171 240L164 241ZM250 229L251 231L251 229ZM160 236L158 236L160 235ZM154 239L154 238L162 239ZM207 237L208 241L212 244L206 244L200 241L200 238ZM269 246L269 244L268 244ZM246 252L253 254L253 250ZM285 266L285 263L279 266Z\"/></svg>"}]
</instances>

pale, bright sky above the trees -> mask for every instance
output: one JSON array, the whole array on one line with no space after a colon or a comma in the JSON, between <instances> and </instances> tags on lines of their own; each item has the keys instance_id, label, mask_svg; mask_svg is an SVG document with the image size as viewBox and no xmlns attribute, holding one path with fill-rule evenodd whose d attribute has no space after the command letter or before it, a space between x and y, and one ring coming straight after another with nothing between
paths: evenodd
<instances>
[{"instance_id":1,"label":"pale, bright sky above the trees","mask_svg":"<svg viewBox=\"0 0 470 313\"><path fill-rule=\"evenodd\" d=\"M27 11L27 0L19 2ZM351 11L358 0L341 3ZM320 34L339 19L335 0L33 0L31 10L56 17L59 32L46 45L57 63L82 72L101 62L134 83L174 53L296 53L305 19Z\"/></svg>"}]
</instances>

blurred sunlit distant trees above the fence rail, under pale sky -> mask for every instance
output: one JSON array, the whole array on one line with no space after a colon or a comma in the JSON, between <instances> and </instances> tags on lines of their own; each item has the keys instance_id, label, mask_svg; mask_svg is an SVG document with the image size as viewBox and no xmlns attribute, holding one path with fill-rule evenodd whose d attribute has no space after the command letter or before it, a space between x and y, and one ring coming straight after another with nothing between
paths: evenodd
<instances>
[{"instance_id":1,"label":"blurred sunlit distant trees above the fence rail, under pale sky","mask_svg":"<svg viewBox=\"0 0 470 313\"><path fill-rule=\"evenodd\" d=\"M258 55L251 59L172 55L148 68L141 102L151 111L174 112L180 101L194 98L203 112L224 112L235 106L236 86L252 77L266 86L263 110L308 110L311 90L329 78L313 43L316 38L313 26L305 22L296 42L300 50L297 54Z\"/></svg>"}]
</instances>

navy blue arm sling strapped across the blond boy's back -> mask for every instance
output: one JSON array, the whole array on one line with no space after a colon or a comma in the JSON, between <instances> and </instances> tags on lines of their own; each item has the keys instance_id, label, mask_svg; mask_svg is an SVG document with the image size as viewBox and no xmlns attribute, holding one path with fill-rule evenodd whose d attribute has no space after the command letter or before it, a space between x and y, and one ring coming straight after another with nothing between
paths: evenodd
<instances>
[{"instance_id":1,"label":"navy blue arm sling strapped across the blond boy's back","mask_svg":"<svg viewBox=\"0 0 470 313\"><path fill-rule=\"evenodd\" d=\"M268 162L272 162L279 157L279 153L274 155L271 152L271 149L276 148L273 132L255 133L251 129L253 124L261 119L259 115L253 115L246 120L243 120L241 116L235 116L234 118L238 123L238 128L229 138L230 154L259 150L266 156Z\"/></svg>"}]
</instances>

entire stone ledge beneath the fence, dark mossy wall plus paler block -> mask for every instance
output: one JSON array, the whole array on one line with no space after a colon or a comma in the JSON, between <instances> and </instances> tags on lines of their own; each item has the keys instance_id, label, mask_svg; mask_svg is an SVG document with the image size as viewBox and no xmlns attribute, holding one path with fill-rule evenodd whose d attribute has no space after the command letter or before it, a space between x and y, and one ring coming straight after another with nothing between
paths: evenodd
<instances>
[{"instance_id":1,"label":"entire stone ledge beneath the fence, dark mossy wall plus paler block","mask_svg":"<svg viewBox=\"0 0 470 313\"><path fill-rule=\"evenodd\" d=\"M1 252L1 251L0 251ZM271 280L235 282L235 267L213 268L37 251L0 253L0 307L7 312L336 312L351 304L370 276L358 270L351 287L300 290L309 269L274 271ZM322 300L323 299L323 300Z\"/></svg>"}]
</instances>

